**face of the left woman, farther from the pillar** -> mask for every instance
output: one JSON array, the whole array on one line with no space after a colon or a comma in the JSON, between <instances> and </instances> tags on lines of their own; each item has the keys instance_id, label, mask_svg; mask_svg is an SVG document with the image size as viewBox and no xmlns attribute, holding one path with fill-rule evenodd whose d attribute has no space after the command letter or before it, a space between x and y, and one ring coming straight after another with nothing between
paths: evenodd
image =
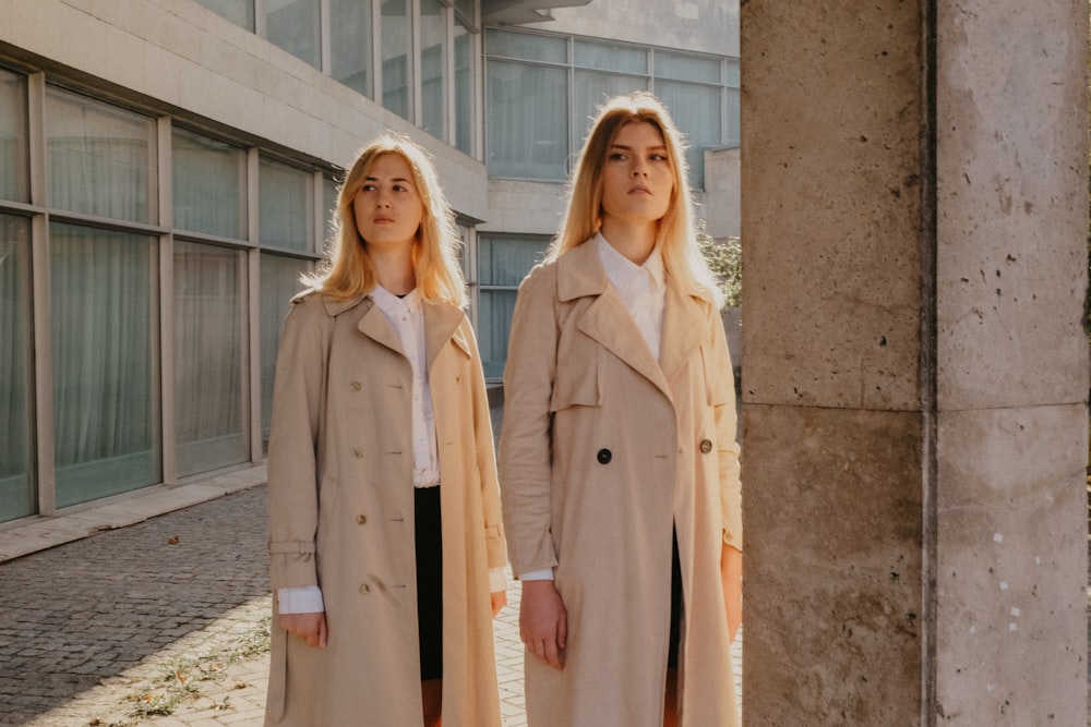
<instances>
[{"instance_id":1,"label":"face of the left woman, farther from the pillar","mask_svg":"<svg viewBox=\"0 0 1091 727\"><path fill-rule=\"evenodd\" d=\"M382 154L371 165L352 197L356 229L371 247L410 245L424 216L409 162L400 154Z\"/></svg>"}]
</instances>

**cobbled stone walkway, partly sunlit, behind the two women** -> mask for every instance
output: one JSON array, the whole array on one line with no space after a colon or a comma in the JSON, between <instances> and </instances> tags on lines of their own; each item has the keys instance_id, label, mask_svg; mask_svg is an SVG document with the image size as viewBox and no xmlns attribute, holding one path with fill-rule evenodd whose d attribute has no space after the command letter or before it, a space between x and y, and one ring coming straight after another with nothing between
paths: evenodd
<instances>
[{"instance_id":1,"label":"cobbled stone walkway, partly sunlit, behind the two women","mask_svg":"<svg viewBox=\"0 0 1091 727\"><path fill-rule=\"evenodd\" d=\"M263 486L0 562L0 725L261 725L267 572ZM495 628L504 727L526 725L518 595Z\"/></svg>"}]
</instances>

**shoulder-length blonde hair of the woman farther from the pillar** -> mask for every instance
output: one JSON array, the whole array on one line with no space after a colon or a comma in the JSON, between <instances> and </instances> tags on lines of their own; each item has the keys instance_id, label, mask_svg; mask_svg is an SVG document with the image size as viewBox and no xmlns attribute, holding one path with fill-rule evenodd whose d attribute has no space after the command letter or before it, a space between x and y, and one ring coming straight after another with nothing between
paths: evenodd
<instances>
[{"instance_id":1,"label":"shoulder-length blonde hair of the woman farther from the pillar","mask_svg":"<svg viewBox=\"0 0 1091 727\"><path fill-rule=\"evenodd\" d=\"M466 281L458 265L461 240L435 167L422 148L394 134L376 138L357 154L337 193L326 260L313 274L303 276L303 284L335 300L364 295L377 284L368 241L356 227L352 201L375 160L384 154L397 154L406 160L420 195L421 220L412 254L417 289L424 300L466 307Z\"/></svg>"}]
</instances>

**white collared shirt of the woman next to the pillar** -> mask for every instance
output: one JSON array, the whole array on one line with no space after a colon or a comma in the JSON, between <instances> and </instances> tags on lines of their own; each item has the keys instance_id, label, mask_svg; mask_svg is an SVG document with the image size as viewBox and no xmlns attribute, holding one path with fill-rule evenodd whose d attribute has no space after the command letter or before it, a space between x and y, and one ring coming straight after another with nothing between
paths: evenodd
<instances>
[{"instance_id":1,"label":"white collared shirt of the woman next to the pillar","mask_svg":"<svg viewBox=\"0 0 1091 727\"><path fill-rule=\"evenodd\" d=\"M594 244L599 253L607 279L618 291L625 310L644 335L652 355L659 360L660 343L663 338L663 310L667 307L667 272L659 245L651 251L644 265L637 265L619 253L602 233L584 244ZM519 575L523 581L548 581L553 579L552 568L541 568Z\"/></svg>"}]
</instances>

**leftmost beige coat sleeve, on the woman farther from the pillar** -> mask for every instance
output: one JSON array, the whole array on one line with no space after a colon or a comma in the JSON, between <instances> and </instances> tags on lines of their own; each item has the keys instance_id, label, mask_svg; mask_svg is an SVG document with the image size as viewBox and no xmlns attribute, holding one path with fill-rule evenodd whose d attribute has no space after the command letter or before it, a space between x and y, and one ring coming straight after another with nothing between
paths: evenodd
<instances>
[{"instance_id":1,"label":"leftmost beige coat sleeve, on the woman farther from the pillar","mask_svg":"<svg viewBox=\"0 0 1091 727\"><path fill-rule=\"evenodd\" d=\"M273 385L268 448L269 580L277 589L317 585L317 443L333 318L321 295L293 302Z\"/></svg>"}]
</instances>

